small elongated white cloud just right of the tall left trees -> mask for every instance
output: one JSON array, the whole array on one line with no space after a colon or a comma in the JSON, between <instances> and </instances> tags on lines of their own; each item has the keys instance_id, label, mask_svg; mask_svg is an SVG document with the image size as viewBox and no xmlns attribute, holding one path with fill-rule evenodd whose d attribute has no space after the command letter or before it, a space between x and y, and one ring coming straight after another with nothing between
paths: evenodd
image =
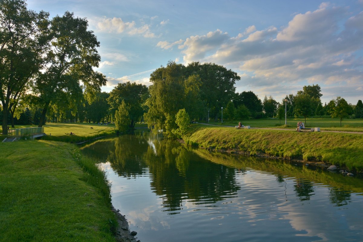
<instances>
[{"instance_id":1,"label":"small elongated white cloud just right of the tall left trees","mask_svg":"<svg viewBox=\"0 0 363 242\"><path fill-rule=\"evenodd\" d=\"M123 33L126 32L129 35L140 34L145 38L156 37L150 30L150 25L143 24L140 27L136 27L135 21L125 22L121 18L106 18L103 17L97 21L97 29L102 32L108 33Z\"/></svg>"}]
</instances>

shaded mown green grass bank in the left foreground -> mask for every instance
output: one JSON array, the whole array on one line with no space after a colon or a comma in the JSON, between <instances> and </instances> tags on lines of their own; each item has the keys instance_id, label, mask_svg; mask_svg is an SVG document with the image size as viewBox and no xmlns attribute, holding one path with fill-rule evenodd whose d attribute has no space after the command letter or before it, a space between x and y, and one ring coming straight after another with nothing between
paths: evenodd
<instances>
[{"instance_id":1,"label":"shaded mown green grass bank in the left foreground","mask_svg":"<svg viewBox=\"0 0 363 242\"><path fill-rule=\"evenodd\" d=\"M0 241L115 241L110 186L76 146L0 143Z\"/></svg>"}]
</instances>

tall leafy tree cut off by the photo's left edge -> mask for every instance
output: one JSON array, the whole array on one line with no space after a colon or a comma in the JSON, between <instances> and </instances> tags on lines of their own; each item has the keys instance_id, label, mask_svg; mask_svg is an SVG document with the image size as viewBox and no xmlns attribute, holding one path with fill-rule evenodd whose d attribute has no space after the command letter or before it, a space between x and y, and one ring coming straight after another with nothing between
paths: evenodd
<instances>
[{"instance_id":1,"label":"tall leafy tree cut off by the photo's left edge","mask_svg":"<svg viewBox=\"0 0 363 242\"><path fill-rule=\"evenodd\" d=\"M48 13L30 11L23 0L0 1L0 100L3 134L8 114L44 63Z\"/></svg>"}]
</instances>

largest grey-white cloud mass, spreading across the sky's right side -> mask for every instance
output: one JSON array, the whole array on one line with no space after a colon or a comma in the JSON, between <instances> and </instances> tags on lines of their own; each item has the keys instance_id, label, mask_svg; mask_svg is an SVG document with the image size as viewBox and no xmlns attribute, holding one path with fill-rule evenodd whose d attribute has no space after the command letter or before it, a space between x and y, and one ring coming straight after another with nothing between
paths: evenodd
<instances>
[{"instance_id":1,"label":"largest grey-white cloud mass, spreading across the sky's right side","mask_svg":"<svg viewBox=\"0 0 363 242\"><path fill-rule=\"evenodd\" d=\"M346 87L342 90L355 87L346 94L358 97L363 86L363 60L358 53L363 48L362 23L363 11L352 15L347 7L322 3L315 11L296 14L281 28L258 30L251 25L237 36L217 29L179 40L179 49L185 64L214 62L238 70L237 87L248 86L260 94L284 93L285 97L304 85L319 84ZM164 49L170 45L158 43Z\"/></svg>"}]
</instances>

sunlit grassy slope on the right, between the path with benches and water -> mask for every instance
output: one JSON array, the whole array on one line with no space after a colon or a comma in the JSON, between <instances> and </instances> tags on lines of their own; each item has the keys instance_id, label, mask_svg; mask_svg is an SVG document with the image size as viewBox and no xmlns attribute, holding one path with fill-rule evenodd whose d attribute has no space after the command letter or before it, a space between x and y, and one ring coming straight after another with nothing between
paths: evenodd
<instances>
[{"instance_id":1,"label":"sunlit grassy slope on the right, between the path with benches and water","mask_svg":"<svg viewBox=\"0 0 363 242\"><path fill-rule=\"evenodd\" d=\"M363 136L360 134L236 130L195 125L184 140L187 144L204 148L318 160L363 171Z\"/></svg>"}]
</instances>

